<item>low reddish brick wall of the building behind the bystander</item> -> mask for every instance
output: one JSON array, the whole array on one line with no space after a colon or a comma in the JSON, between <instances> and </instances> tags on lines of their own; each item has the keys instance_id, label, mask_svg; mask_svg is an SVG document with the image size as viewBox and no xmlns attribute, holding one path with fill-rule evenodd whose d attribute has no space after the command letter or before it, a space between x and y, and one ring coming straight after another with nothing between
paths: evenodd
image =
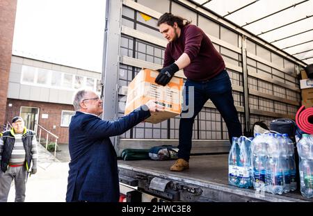
<instances>
[{"instance_id":1,"label":"low reddish brick wall of the building behind the bystander","mask_svg":"<svg viewBox=\"0 0 313 216\"><path fill-rule=\"evenodd\" d=\"M11 103L12 106L8 106L9 103ZM6 106L6 121L11 122L13 117L19 115L21 106L40 108L39 124L47 128L51 133L57 135L59 138L58 143L68 143L68 127L61 126L61 113L62 110L74 110L72 105L8 99ZM42 114L48 114L48 118L42 119ZM55 129L53 128L54 125L56 126ZM46 138L46 133L42 132L42 137Z\"/></svg>"}]
</instances>

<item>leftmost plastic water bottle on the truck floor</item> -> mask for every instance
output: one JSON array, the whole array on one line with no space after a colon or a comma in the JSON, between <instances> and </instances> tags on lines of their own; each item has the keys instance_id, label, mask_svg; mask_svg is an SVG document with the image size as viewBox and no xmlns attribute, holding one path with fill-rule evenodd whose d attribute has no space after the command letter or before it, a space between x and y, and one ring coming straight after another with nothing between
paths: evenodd
<instances>
[{"instance_id":1,"label":"leftmost plastic water bottle on the truck floor","mask_svg":"<svg viewBox=\"0 0 313 216\"><path fill-rule=\"evenodd\" d=\"M239 183L239 168L238 168L238 158L239 158L239 138L232 138L232 147L230 148L230 153L228 155L228 183L230 185L237 186Z\"/></svg>"}]
</instances>

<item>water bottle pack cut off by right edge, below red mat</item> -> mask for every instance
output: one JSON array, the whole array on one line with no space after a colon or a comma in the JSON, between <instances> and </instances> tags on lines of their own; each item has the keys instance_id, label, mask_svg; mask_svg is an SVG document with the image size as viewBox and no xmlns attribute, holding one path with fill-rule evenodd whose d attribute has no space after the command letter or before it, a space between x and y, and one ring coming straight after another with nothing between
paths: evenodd
<instances>
[{"instance_id":1,"label":"water bottle pack cut off by right edge, below red mat","mask_svg":"<svg viewBox=\"0 0 313 216\"><path fill-rule=\"evenodd\" d=\"M299 154L300 191L303 197L313 197L313 136L303 134L297 143Z\"/></svg>"}]
</instances>

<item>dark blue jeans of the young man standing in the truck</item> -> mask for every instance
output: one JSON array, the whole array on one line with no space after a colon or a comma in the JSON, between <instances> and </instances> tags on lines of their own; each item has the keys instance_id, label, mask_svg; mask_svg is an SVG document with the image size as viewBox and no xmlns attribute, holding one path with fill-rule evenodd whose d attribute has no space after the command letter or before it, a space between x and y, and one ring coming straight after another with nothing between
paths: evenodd
<instances>
[{"instance_id":1,"label":"dark blue jeans of the young man standing in the truck","mask_svg":"<svg viewBox=\"0 0 313 216\"><path fill-rule=\"evenodd\" d=\"M190 87L193 87L194 96L189 95L189 92L191 92ZM242 135L241 123L232 97L232 83L226 69L209 81L191 81L187 79L184 90L186 94L183 95L183 111L179 122L178 158L189 160L193 122L208 99L211 99L220 115L222 115L228 129L230 143L232 143L232 137ZM189 101L191 99L193 99L193 103Z\"/></svg>"}]
</instances>

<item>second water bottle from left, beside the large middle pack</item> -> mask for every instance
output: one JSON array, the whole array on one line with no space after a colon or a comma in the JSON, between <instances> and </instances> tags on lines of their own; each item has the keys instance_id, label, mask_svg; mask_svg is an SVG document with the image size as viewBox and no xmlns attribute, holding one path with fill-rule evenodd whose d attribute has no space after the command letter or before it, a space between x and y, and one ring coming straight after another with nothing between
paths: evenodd
<instances>
[{"instance_id":1,"label":"second water bottle from left, beside the large middle pack","mask_svg":"<svg viewBox=\"0 0 313 216\"><path fill-rule=\"evenodd\" d=\"M249 188L250 187L250 158L248 156L248 151L246 149L246 138L239 138L239 182L238 186L240 188Z\"/></svg>"}]
</instances>

